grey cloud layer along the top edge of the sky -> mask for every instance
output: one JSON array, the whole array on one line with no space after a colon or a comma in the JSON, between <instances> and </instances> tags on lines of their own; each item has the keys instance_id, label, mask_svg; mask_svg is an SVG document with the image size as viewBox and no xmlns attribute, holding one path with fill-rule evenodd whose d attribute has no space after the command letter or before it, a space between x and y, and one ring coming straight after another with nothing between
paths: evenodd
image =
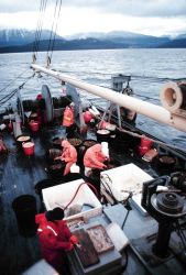
<instances>
[{"instance_id":1,"label":"grey cloud layer along the top edge of the sky","mask_svg":"<svg viewBox=\"0 0 186 275\"><path fill-rule=\"evenodd\" d=\"M47 6L56 0L47 0ZM120 13L130 16L185 16L185 0L62 0L62 9L65 7L94 8L100 13ZM1 12L39 11L39 0L1 0Z\"/></svg>"}]
</instances>

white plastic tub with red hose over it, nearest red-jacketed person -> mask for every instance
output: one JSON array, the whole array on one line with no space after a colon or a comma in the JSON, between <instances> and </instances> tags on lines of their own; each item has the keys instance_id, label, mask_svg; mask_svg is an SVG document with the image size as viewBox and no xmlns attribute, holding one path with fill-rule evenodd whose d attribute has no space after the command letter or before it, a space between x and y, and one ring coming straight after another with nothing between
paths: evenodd
<instances>
[{"instance_id":1,"label":"white plastic tub with red hose over it, nearest red-jacketed person","mask_svg":"<svg viewBox=\"0 0 186 275\"><path fill-rule=\"evenodd\" d=\"M45 188L42 190L43 193L43 201L45 204L46 210L52 210L55 207L66 207L68 202L74 197L79 185L84 183L84 179L73 180L66 184L53 186L50 188ZM87 185L80 186L77 196L69 205L73 207L74 205L90 205L92 209L81 211L80 213L76 213L66 218L66 220L72 218L91 218L97 215L100 215L102 211L102 206L91 191L91 189Z\"/></svg>"}]
</instances>

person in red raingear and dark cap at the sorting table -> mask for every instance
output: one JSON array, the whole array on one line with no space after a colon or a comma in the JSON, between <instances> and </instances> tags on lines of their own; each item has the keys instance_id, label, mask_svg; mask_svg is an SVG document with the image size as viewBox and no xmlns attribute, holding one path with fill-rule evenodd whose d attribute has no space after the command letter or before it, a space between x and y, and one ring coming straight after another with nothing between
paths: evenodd
<instances>
[{"instance_id":1,"label":"person in red raingear and dark cap at the sorting table","mask_svg":"<svg viewBox=\"0 0 186 275\"><path fill-rule=\"evenodd\" d=\"M73 250L74 244L78 241L63 218L64 210L57 207L45 213L36 215L35 222L39 224L37 235L43 257L59 274L68 274L65 252Z\"/></svg>"}]
</instances>

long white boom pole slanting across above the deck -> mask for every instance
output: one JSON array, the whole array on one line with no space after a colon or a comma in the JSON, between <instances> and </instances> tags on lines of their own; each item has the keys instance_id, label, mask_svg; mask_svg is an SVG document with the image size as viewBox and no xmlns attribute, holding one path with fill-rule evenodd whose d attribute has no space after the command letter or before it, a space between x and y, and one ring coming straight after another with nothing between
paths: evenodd
<instances>
[{"instance_id":1,"label":"long white boom pole slanting across above the deck","mask_svg":"<svg viewBox=\"0 0 186 275\"><path fill-rule=\"evenodd\" d=\"M186 118L180 116L174 116L168 110L163 107L145 102L143 100L129 97L122 94L118 94L109 88L99 87L92 84L87 84L83 80L73 78L68 75L61 74L59 72L54 72L52 69L32 64L31 67L36 72L43 72L58 80L68 82L76 88L86 90L89 94L105 98L113 103L124 107L127 109L133 110L138 113L146 116L153 120L161 123L168 124L177 130L186 132Z\"/></svg>"}]
</instances>

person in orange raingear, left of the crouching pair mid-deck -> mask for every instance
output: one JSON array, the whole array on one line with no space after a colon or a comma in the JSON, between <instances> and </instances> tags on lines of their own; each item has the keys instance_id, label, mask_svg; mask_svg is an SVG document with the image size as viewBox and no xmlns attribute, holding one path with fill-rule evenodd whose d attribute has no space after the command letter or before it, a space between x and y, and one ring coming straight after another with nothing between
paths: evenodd
<instances>
[{"instance_id":1,"label":"person in orange raingear, left of the crouching pair mid-deck","mask_svg":"<svg viewBox=\"0 0 186 275\"><path fill-rule=\"evenodd\" d=\"M63 153L61 156L57 156L55 160L61 160L66 163L66 167L64 170L64 176L66 176L70 172L70 167L74 163L77 162L77 151L76 148L66 140L62 142Z\"/></svg>"}]
</instances>

